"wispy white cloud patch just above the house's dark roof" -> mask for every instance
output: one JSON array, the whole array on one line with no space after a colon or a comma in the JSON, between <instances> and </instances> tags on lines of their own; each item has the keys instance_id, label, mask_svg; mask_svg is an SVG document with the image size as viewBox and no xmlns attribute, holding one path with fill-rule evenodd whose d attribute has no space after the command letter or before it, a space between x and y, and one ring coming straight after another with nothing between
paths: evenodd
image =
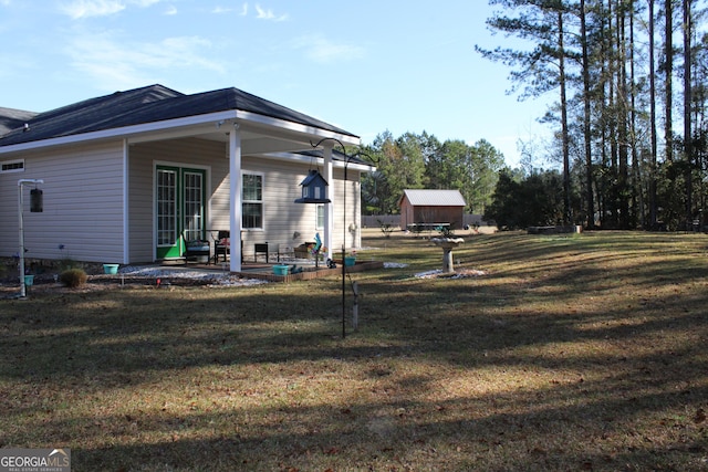
<instances>
[{"instance_id":1,"label":"wispy white cloud patch just above the house's dark roof","mask_svg":"<svg viewBox=\"0 0 708 472\"><path fill-rule=\"evenodd\" d=\"M160 82L181 71L223 73L223 66L207 59L211 42L199 36L167 38L156 43L131 43L113 32L75 38L66 51L70 64L93 77L107 91Z\"/></svg>"}]
</instances>

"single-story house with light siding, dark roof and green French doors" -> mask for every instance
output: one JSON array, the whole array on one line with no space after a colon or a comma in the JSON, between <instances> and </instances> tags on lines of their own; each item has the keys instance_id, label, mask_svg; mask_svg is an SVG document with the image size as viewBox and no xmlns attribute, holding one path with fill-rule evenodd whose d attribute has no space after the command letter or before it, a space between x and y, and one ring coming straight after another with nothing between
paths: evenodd
<instances>
[{"instance_id":1,"label":"single-story house with light siding, dark roof and green French doors","mask_svg":"<svg viewBox=\"0 0 708 472\"><path fill-rule=\"evenodd\" d=\"M43 212L25 200L33 259L158 261L183 255L185 239L229 230L238 272L240 248L248 255L256 243L274 251L320 233L335 253L361 244L360 177L373 167L337 153L358 137L272 102L153 85L11 112L0 108L0 256L19 250L19 179L44 181ZM311 169L329 177L332 202L320 208L294 202Z\"/></svg>"}]
</instances>

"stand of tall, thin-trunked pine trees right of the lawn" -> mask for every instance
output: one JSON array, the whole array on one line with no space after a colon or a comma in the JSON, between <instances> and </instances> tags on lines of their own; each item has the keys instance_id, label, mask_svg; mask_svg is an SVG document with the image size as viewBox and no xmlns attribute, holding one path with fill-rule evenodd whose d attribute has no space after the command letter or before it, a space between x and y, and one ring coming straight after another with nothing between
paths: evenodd
<instances>
[{"instance_id":1,"label":"stand of tall, thin-trunked pine trees right of the lawn","mask_svg":"<svg viewBox=\"0 0 708 472\"><path fill-rule=\"evenodd\" d=\"M542 119L554 129L549 154L561 164L560 182L553 175L540 181L561 186L560 197L553 197L560 199L560 211L555 208L544 218L587 228L705 224L705 2L489 3L499 9L488 27L530 46L477 51L511 69L510 92L520 98L546 93L558 97ZM502 200L514 190L512 177L499 179ZM517 175L516 182L538 187L539 181L527 182L529 177ZM494 211L504 208L502 203Z\"/></svg>"}]
</instances>

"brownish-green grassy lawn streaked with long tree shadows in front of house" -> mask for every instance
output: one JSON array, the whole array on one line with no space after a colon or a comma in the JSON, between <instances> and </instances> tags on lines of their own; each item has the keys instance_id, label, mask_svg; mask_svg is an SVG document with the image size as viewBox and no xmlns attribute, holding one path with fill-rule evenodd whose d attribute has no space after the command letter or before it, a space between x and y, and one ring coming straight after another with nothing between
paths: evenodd
<instances>
[{"instance_id":1,"label":"brownish-green grassy lawn streaked with long tree shadows in front of house","mask_svg":"<svg viewBox=\"0 0 708 472\"><path fill-rule=\"evenodd\" d=\"M0 448L74 471L708 470L708 237L376 230L353 274L0 301ZM348 282L348 281L347 281ZM352 296L347 286L347 302Z\"/></svg>"}]
</instances>

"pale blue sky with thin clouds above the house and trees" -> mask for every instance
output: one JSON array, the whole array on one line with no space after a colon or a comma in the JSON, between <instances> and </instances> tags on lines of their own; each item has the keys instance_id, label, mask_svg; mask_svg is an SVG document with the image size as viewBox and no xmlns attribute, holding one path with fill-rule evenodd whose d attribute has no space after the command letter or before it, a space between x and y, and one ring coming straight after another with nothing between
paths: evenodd
<instances>
[{"instance_id":1,"label":"pale blue sky with thin clouds above the house and trees","mask_svg":"<svg viewBox=\"0 0 708 472\"><path fill-rule=\"evenodd\" d=\"M509 70L475 44L509 44L486 0L0 0L0 106L43 112L159 83L238 87L372 143L427 130L517 141L554 96L506 95Z\"/></svg>"}]
</instances>

